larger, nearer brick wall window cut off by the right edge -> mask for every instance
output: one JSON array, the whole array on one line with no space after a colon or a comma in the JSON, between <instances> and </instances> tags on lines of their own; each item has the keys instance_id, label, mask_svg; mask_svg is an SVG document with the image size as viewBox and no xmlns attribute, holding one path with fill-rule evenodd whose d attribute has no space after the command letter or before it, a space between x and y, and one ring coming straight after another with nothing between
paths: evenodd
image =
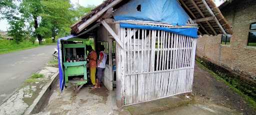
<instances>
[{"instance_id":1,"label":"larger, nearer brick wall window cut off by the right edge","mask_svg":"<svg viewBox=\"0 0 256 115\"><path fill-rule=\"evenodd\" d=\"M250 30L248 35L248 46L256 46L256 23L250 24Z\"/></svg>"}]
</instances>

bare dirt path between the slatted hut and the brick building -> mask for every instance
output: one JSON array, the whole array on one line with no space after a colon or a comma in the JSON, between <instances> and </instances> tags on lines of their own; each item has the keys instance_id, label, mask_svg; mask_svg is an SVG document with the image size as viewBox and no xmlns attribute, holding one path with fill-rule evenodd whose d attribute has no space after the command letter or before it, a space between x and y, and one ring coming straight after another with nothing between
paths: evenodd
<instances>
[{"instance_id":1,"label":"bare dirt path between the slatted hut and the brick building","mask_svg":"<svg viewBox=\"0 0 256 115\"><path fill-rule=\"evenodd\" d=\"M195 64L194 68L193 93L219 106L242 112L244 115L256 115L255 110L250 108L238 94L217 81L198 64Z\"/></svg>"}]
</instances>

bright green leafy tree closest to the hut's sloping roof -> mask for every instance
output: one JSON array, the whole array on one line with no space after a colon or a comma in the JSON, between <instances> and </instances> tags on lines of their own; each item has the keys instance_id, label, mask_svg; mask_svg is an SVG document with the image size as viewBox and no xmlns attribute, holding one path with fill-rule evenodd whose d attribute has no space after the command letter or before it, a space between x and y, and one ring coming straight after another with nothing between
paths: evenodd
<instances>
[{"instance_id":1,"label":"bright green leafy tree closest to the hut's sloping roof","mask_svg":"<svg viewBox=\"0 0 256 115\"><path fill-rule=\"evenodd\" d=\"M73 8L69 0L41 0L41 4L44 10L41 17L43 20L47 20L49 24L45 24L47 26L40 24L40 27L51 30L53 42L57 35L64 36L69 34L72 23L75 23L77 19L92 9L92 6L83 7L81 5Z\"/></svg>"}]
</instances>

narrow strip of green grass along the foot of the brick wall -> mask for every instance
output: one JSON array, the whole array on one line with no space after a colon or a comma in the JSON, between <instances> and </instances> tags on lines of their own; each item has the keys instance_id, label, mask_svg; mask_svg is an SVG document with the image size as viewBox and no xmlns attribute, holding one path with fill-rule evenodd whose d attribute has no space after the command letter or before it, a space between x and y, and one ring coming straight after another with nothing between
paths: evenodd
<instances>
[{"instance_id":1,"label":"narrow strip of green grass along the foot of the brick wall","mask_svg":"<svg viewBox=\"0 0 256 115\"><path fill-rule=\"evenodd\" d=\"M253 108L254 110L256 110L256 102L249 96L243 94L240 90L236 89L235 86L231 85L230 83L228 83L226 80L224 80L223 78L221 78L220 76L218 76L216 73L214 73L213 71L209 70L208 68L206 68L205 66L203 66L199 60L196 60L196 63L199 65L200 68L206 70L211 76L213 76L217 81L224 83L225 85L227 85L233 92L237 93L239 96L241 96L244 101L246 101L248 103L248 105Z\"/></svg>"}]
</instances>

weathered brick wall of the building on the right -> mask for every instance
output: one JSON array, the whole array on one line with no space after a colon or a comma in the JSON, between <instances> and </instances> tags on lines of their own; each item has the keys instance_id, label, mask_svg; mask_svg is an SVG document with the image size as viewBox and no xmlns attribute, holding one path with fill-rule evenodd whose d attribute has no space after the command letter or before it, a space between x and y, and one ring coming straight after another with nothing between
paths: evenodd
<instances>
[{"instance_id":1,"label":"weathered brick wall of the building on the right","mask_svg":"<svg viewBox=\"0 0 256 115\"><path fill-rule=\"evenodd\" d=\"M197 40L196 56L256 81L256 47L247 46L250 23L256 22L256 0L235 0L220 9L232 26L230 45L221 45L221 35L203 35Z\"/></svg>"}]
</instances>

